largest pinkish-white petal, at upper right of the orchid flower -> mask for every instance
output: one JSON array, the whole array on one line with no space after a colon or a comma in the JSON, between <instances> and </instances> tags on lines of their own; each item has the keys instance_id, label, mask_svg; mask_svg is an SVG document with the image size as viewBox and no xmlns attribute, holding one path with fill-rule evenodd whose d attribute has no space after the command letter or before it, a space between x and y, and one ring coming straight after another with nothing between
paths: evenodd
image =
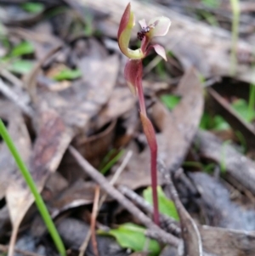
<instances>
[{"instance_id":1,"label":"largest pinkish-white petal, at upper right of the orchid flower","mask_svg":"<svg viewBox=\"0 0 255 256\"><path fill-rule=\"evenodd\" d=\"M152 29L148 33L148 36L150 38L165 36L169 30L170 25L171 25L171 20L164 16L151 19L149 21L149 26Z\"/></svg>"}]
</instances>

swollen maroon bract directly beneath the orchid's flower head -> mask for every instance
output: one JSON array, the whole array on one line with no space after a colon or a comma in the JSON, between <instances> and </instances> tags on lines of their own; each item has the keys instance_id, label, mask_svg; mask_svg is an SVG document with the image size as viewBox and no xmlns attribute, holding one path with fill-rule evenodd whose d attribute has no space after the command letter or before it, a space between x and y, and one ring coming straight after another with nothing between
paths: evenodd
<instances>
[{"instance_id":1,"label":"swollen maroon bract directly beneath the orchid's flower head","mask_svg":"<svg viewBox=\"0 0 255 256\"><path fill-rule=\"evenodd\" d=\"M124 76L133 95L136 95L137 84L142 79L142 71L142 60L127 60Z\"/></svg>"}]
</instances>

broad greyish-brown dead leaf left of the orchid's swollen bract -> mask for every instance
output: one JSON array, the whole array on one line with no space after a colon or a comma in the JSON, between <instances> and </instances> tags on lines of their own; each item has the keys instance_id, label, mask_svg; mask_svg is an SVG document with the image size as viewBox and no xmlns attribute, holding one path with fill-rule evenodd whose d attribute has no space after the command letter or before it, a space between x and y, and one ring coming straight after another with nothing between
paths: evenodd
<instances>
[{"instance_id":1,"label":"broad greyish-brown dead leaf left of the orchid's swollen bract","mask_svg":"<svg viewBox=\"0 0 255 256\"><path fill-rule=\"evenodd\" d=\"M83 79L73 82L70 88L58 93L38 88L38 106L47 104L59 113L65 125L82 132L80 135L86 138L88 121L99 112L111 96L116 82L118 62L116 55L104 60L82 58L80 69Z\"/></svg>"}]
</instances>

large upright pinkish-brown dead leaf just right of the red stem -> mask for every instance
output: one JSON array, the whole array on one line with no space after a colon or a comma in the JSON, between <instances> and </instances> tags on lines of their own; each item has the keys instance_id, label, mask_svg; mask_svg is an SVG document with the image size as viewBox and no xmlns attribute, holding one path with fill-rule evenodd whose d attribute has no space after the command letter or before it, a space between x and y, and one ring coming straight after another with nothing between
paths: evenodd
<instances>
[{"instance_id":1,"label":"large upright pinkish-brown dead leaf just right of the red stem","mask_svg":"<svg viewBox=\"0 0 255 256\"><path fill-rule=\"evenodd\" d=\"M152 108L152 117L161 130L159 156L167 169L172 170L177 170L183 162L203 111L201 82L194 69L184 74L176 94L181 96L181 100L173 112L167 111L159 102Z\"/></svg>"}]
</instances>

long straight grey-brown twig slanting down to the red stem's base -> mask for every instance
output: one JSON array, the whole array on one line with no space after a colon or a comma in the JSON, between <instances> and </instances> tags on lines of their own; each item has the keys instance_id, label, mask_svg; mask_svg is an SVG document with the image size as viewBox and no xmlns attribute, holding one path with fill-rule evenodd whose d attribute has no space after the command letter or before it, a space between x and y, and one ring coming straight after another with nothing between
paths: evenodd
<instances>
[{"instance_id":1,"label":"long straight grey-brown twig slanting down to the red stem's base","mask_svg":"<svg viewBox=\"0 0 255 256\"><path fill-rule=\"evenodd\" d=\"M82 169L92 178L94 179L100 187L110 196L112 196L114 199L116 199L117 202L122 204L124 208L127 209L127 211L136 218L139 219L139 221L146 226L150 230L154 230L158 234L158 240L167 243L170 245L173 245L174 247L178 247L179 239L171 234L168 234L166 231L161 230L159 226L155 225L150 218L148 218L143 212L137 208L133 202L129 201L127 197L123 196L122 193L118 190L116 190L115 187L113 187L105 177L99 173L88 161L86 161L82 155L71 145L69 146L69 151L71 152L71 155L74 156L78 162L78 164L82 167Z\"/></svg>"}]
</instances>

